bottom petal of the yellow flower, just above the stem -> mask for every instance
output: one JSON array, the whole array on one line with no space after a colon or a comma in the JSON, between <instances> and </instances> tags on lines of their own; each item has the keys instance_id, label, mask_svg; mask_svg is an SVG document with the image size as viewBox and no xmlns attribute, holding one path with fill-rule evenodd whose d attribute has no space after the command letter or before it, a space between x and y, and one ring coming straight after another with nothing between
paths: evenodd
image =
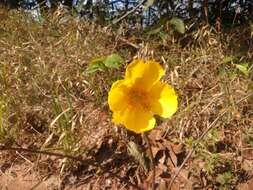
<instances>
[{"instance_id":1,"label":"bottom petal of the yellow flower, just above the stem","mask_svg":"<svg viewBox=\"0 0 253 190\"><path fill-rule=\"evenodd\" d=\"M155 127L155 119L151 113L144 110L128 107L124 111L114 112L113 121L124 125L135 133L149 131Z\"/></svg>"}]
</instances>

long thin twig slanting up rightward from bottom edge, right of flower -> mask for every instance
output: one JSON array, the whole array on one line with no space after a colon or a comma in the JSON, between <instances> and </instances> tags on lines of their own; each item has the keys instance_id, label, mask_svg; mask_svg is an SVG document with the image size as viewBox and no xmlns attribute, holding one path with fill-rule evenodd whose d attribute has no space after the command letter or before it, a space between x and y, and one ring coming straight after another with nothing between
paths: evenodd
<instances>
[{"instance_id":1,"label":"long thin twig slanting up rightward from bottom edge, right of flower","mask_svg":"<svg viewBox=\"0 0 253 190\"><path fill-rule=\"evenodd\" d=\"M176 174L172 177L170 184L169 184L169 188L172 188L172 185L174 183L174 181L176 180L177 176L179 175L180 171L183 169L184 165L186 164L186 162L190 159L192 153L195 151L196 147L199 145L200 141L203 140L203 138L205 137L205 135L215 126L216 122L227 112L227 110L225 110L224 112L222 112L207 128L206 130L202 133L202 135L197 139L196 143L194 144L193 148L190 150L190 152L187 154L186 158L184 159L183 163L180 165L180 167L178 168Z\"/></svg>"}]
</instances>

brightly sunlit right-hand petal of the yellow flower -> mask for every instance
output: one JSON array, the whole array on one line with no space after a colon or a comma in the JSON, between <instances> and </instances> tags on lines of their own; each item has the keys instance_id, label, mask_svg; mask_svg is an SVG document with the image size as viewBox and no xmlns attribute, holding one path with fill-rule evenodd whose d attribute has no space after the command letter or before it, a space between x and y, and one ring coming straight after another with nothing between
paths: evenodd
<instances>
[{"instance_id":1,"label":"brightly sunlit right-hand petal of the yellow flower","mask_svg":"<svg viewBox=\"0 0 253 190\"><path fill-rule=\"evenodd\" d=\"M170 85L159 81L149 93L151 97L151 111L153 113L169 118L177 111L177 95Z\"/></svg>"}]
</instances>

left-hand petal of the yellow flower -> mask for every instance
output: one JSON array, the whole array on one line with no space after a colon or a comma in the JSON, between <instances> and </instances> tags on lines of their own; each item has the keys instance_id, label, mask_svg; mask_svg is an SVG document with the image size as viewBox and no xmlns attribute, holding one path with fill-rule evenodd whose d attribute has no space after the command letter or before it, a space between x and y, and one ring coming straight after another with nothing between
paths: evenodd
<instances>
[{"instance_id":1,"label":"left-hand petal of the yellow flower","mask_svg":"<svg viewBox=\"0 0 253 190\"><path fill-rule=\"evenodd\" d=\"M118 111L124 110L127 107L127 80L118 80L113 83L109 94L108 94L108 104L110 110Z\"/></svg>"}]
</instances>

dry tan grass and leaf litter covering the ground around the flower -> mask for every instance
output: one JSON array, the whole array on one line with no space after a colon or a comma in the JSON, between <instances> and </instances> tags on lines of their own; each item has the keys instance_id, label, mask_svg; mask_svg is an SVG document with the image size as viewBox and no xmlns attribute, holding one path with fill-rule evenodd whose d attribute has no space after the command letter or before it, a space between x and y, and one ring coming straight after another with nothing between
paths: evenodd
<instances>
[{"instance_id":1,"label":"dry tan grass and leaf litter covering the ground around the flower","mask_svg":"<svg viewBox=\"0 0 253 190\"><path fill-rule=\"evenodd\" d=\"M165 80L179 95L177 114L171 120L159 119L149 133L160 189L166 189L191 148L194 153L173 188L246 189L252 184L252 75L236 67L249 63L252 71L250 28L220 34L204 26L184 39L161 40L137 33L126 36L126 31L101 28L57 11L43 24L4 9L0 17L1 144L92 160L87 165L9 151L0 153L5 165L28 163L40 180L59 175L61 188L150 186L150 172L145 173L127 151L129 141L142 151L145 144L111 123L106 103L108 89L122 76L124 65L109 73L85 74L91 59L116 52L126 64L135 56L160 61L167 69Z\"/></svg>"}]
</instances>

